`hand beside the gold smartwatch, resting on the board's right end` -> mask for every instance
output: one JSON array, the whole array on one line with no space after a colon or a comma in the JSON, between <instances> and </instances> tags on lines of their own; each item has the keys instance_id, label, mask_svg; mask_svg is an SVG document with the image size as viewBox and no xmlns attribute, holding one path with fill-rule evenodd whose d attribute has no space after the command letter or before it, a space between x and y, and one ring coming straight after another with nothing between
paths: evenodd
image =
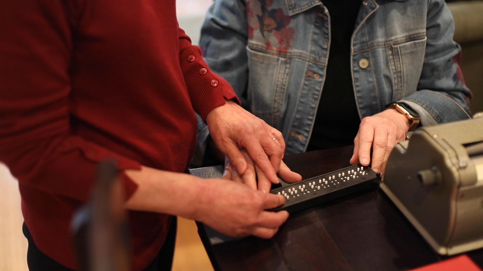
<instances>
[{"instance_id":1,"label":"hand beside the gold smartwatch, resting on the board's right end","mask_svg":"<svg viewBox=\"0 0 483 271\"><path fill-rule=\"evenodd\" d=\"M406 139L408 129L409 120L394 108L362 119L354 139L354 154L350 163L368 166L372 147L371 168L384 175L391 150L399 141Z\"/></svg>"}]
</instances>

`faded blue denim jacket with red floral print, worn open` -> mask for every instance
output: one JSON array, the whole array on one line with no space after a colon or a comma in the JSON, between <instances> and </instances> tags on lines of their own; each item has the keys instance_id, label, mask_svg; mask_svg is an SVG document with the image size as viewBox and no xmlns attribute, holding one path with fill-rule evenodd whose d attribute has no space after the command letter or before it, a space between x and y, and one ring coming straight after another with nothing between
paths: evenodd
<instances>
[{"instance_id":1,"label":"faded blue denim jacket with red floral print, worn open","mask_svg":"<svg viewBox=\"0 0 483 271\"><path fill-rule=\"evenodd\" d=\"M454 31L443 0L364 0L351 39L359 117L398 101L422 125L470 118ZM199 46L247 109L284 134L290 154L310 140L330 36L320 0L215 0Z\"/></svg>"}]
</instances>

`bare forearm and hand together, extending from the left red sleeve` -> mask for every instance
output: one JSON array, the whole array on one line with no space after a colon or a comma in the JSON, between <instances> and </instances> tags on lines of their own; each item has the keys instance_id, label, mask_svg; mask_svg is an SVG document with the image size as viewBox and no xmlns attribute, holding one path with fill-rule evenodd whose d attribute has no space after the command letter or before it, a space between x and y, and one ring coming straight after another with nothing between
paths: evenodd
<instances>
[{"instance_id":1,"label":"bare forearm and hand together, extending from the left red sleeve","mask_svg":"<svg viewBox=\"0 0 483 271\"><path fill-rule=\"evenodd\" d=\"M262 238L272 237L288 218L286 211L265 211L284 204L284 196L241 183L146 166L124 173L138 186L125 203L130 210L186 217L230 236Z\"/></svg>"}]
</instances>

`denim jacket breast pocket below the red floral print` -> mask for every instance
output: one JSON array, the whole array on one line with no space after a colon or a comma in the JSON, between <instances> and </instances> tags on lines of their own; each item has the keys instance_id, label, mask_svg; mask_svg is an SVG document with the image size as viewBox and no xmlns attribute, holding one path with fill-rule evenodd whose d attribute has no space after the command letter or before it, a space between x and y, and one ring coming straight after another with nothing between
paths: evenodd
<instances>
[{"instance_id":1,"label":"denim jacket breast pocket below the red floral print","mask_svg":"<svg viewBox=\"0 0 483 271\"><path fill-rule=\"evenodd\" d=\"M266 54L247 46L247 98L252 113L279 129L286 108L290 58Z\"/></svg>"}]
</instances>

